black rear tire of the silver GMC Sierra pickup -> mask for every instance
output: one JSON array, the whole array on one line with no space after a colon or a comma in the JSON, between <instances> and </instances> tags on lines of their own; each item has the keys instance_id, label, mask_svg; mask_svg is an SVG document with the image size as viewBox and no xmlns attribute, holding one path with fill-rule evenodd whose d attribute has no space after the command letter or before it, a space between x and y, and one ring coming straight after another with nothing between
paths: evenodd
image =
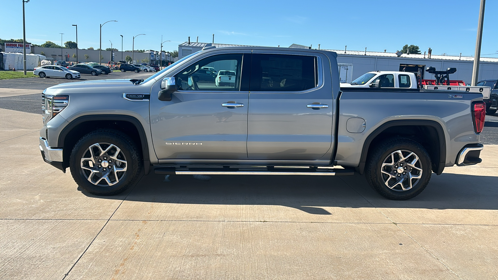
<instances>
[{"instance_id":1,"label":"black rear tire of the silver GMC Sierra pickup","mask_svg":"<svg viewBox=\"0 0 498 280\"><path fill-rule=\"evenodd\" d=\"M405 161L397 160L397 158L401 158L401 156L396 153L398 150L402 151L403 156L413 152L418 156L418 160L414 165L406 165ZM390 165L387 165L382 169L382 163L384 163L384 161L386 163L394 163L392 162L391 153L394 154L392 157L394 158L394 162L397 162L392 165L397 168L391 168ZM407 158L407 161L413 162L413 159L415 159L415 157L412 155ZM405 165L404 167L402 167L403 164ZM416 168L411 166L415 166ZM403 170L403 168L407 170ZM417 169L421 169L421 173ZM395 174L395 176L391 177L386 173L382 173L381 170ZM372 151L369 152L367 164L365 166L365 176L370 186L383 197L392 200L406 200L419 195L425 189L427 183L429 183L431 172L432 162L429 153L427 153L421 144L406 138L387 139L375 146ZM412 176L415 175L415 177L420 176L418 179L412 178L409 180L413 184L411 188L409 188L410 182L407 178L396 184L400 178L408 176L409 174ZM386 183L393 187L388 187Z\"/></svg>"}]
</instances>

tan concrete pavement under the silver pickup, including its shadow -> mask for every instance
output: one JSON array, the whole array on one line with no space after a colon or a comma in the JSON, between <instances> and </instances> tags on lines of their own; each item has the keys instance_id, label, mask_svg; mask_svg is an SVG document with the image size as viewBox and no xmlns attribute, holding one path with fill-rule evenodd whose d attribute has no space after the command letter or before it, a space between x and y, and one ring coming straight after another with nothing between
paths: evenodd
<instances>
[{"instance_id":1,"label":"tan concrete pavement under the silver pickup, including its shadow","mask_svg":"<svg viewBox=\"0 0 498 280\"><path fill-rule=\"evenodd\" d=\"M96 197L43 162L40 115L0 118L0 279L498 279L498 145L408 201L360 175L150 174Z\"/></svg>"}]
</instances>

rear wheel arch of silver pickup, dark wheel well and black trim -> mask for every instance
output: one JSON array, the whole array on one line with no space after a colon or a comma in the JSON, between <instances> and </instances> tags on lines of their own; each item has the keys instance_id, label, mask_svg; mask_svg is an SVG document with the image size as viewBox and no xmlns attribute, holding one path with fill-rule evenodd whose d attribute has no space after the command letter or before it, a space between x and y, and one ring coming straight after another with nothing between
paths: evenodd
<instances>
[{"instance_id":1,"label":"rear wheel arch of silver pickup, dark wheel well and black trim","mask_svg":"<svg viewBox=\"0 0 498 280\"><path fill-rule=\"evenodd\" d=\"M358 172L363 174L369 151L379 141L389 137L409 137L419 142L429 153L432 170L440 175L446 164L446 137L443 127L432 120L394 120L380 125L371 133L363 144ZM433 145L437 138L438 145ZM432 145L431 145L432 144Z\"/></svg>"}]
</instances>

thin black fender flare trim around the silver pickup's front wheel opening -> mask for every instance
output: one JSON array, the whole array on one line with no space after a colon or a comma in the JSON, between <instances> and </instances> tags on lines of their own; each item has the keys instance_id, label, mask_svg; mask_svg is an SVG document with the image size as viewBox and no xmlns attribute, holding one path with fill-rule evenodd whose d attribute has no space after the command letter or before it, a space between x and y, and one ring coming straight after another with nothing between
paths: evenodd
<instances>
[{"instance_id":1,"label":"thin black fender flare trim around the silver pickup's front wheel opening","mask_svg":"<svg viewBox=\"0 0 498 280\"><path fill-rule=\"evenodd\" d=\"M131 123L138 132L138 137L142 144L141 149L143 157L143 168L145 171L145 175L148 174L148 172L150 171L150 155L149 155L149 145L147 141L147 136L140 121L138 121L138 119L132 116L100 114L100 115L86 115L78 117L73 121L71 121L67 126L65 126L62 129L61 133L59 134L58 145L61 146L61 144L64 143L64 140L66 139L67 135L78 125L91 121L124 121Z\"/></svg>"}]
</instances>

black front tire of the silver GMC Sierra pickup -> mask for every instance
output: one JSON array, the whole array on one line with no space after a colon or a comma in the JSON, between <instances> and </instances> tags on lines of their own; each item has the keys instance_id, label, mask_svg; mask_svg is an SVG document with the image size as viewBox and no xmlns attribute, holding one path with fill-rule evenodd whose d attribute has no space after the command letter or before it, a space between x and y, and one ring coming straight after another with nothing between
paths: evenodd
<instances>
[{"instance_id":1,"label":"black front tire of the silver GMC Sierra pickup","mask_svg":"<svg viewBox=\"0 0 498 280\"><path fill-rule=\"evenodd\" d=\"M120 148L120 152L117 152L116 149L111 147L110 152L115 152L116 158L120 159L120 162L114 160L111 162L111 158L104 159L104 156L109 156L109 152L106 154L101 154L99 148L97 146L93 146L94 144L99 143L101 149L106 149L106 146L109 147L111 144ZM95 155L95 165L92 166L95 170L100 170L99 172L92 172L88 169L82 168L82 158L88 158L91 153L89 149L93 146L94 155ZM118 167L126 167L125 171L116 172L118 174L114 174L113 169L108 168L107 175L110 181L114 184L109 184L104 179L104 175L106 172L104 164L99 164L99 156L97 156L97 152L99 152L99 156L102 157L100 160L109 160L107 164L108 167L111 167L113 164ZM123 165L123 160L125 160L125 165ZM102 161L103 162L103 161ZM118 163L119 162L119 163ZM85 165L90 165L90 160L87 160ZM71 159L70 159L70 169L73 179L76 183L86 192L95 194L95 195L115 195L123 192L129 186L132 186L141 171L141 155L140 149L136 145L136 143L131 140L126 134L123 132L112 130L112 129L100 129L93 131L83 138L81 138L74 146L71 151ZM100 167L99 167L100 166ZM123 173L124 172L124 173ZM95 183L92 183L88 180L88 177ZM100 175L100 176L99 176ZM116 175L118 175L119 180L116 182ZM94 180L95 179L95 180ZM114 182L113 182L114 181Z\"/></svg>"}]
</instances>

